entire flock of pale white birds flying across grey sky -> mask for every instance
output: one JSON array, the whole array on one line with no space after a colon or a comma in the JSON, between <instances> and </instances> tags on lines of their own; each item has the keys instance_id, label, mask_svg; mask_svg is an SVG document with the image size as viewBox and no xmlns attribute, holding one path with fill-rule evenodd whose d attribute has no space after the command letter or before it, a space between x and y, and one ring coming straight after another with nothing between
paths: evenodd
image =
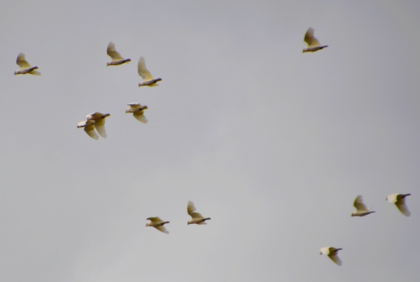
<instances>
[{"instance_id":1,"label":"entire flock of pale white birds flying across grey sky","mask_svg":"<svg viewBox=\"0 0 420 282\"><path fill-rule=\"evenodd\" d=\"M319 43L319 40L314 36L314 29L311 27L307 30L306 34L304 35L304 42L307 43L308 47L304 48L302 52L316 52L318 50L322 50L325 47L328 47L328 45L321 45ZM124 59L119 52L116 50L116 45L112 42L109 43L106 54L111 57L111 61L106 63L106 66L118 66L121 64L129 63L131 59ZM31 75L41 75L39 71L36 71L38 69L37 66L31 66L25 59L25 54L20 53L18 55L18 59L16 59L16 64L20 66L20 68L15 71L15 75L25 75L27 73ZM139 87L141 86L148 86L148 87L156 87L159 86L157 82L161 81L162 78L158 77L155 78L151 74L150 71L146 68L146 61L144 57L140 57L139 62L137 64L137 71L141 78L143 80L139 83ZM147 110L148 107L146 105L141 105L140 103L130 103L128 104L130 107L125 110L125 113L132 113L133 116L141 121L144 124L147 124L148 120L144 116L144 110ZM77 127L84 128L87 135L89 135L91 138L98 140L99 135L102 136L102 138L106 138L106 131L105 131L105 118L109 117L110 114L102 114L101 112L93 112L92 114L87 114L85 121L80 121L77 124ZM95 132L95 129L97 132ZM99 134L99 135L98 135ZM401 211L402 214L405 216L409 216L410 212L407 208L407 205L405 205L405 198L411 194L392 194L388 195L386 197L386 200L388 202L394 203L395 206ZM372 214L375 211L371 211L366 207L366 205L363 203L363 198L361 195L358 195L356 197L356 200L354 200L354 207L356 208L356 212L353 212L351 216L367 216L368 214ZM187 205L187 212L188 215L191 216L191 220L188 221L189 224L198 224L203 225L207 224L206 221L211 218L205 218L200 213L195 211L195 205L193 202L189 201ZM165 228L165 224L169 223L169 221L162 221L158 216L155 217L149 217L146 218L148 221L146 223L147 226L154 227L158 229L161 232L164 232L166 234L169 234L169 231ZM328 255L328 257L335 262L337 265L342 265L342 261L339 259L337 253L338 251L342 250L342 248L335 248L332 246L327 246L324 248L321 248L320 254L321 255Z\"/></svg>"}]
</instances>

